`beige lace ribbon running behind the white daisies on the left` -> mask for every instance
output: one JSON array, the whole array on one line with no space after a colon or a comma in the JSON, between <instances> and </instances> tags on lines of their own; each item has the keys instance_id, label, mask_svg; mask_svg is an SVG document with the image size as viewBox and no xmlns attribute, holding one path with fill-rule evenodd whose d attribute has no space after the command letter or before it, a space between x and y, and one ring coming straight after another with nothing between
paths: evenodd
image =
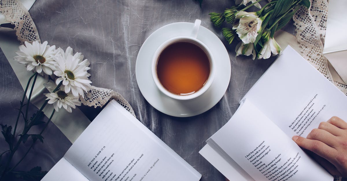
<instances>
[{"instance_id":1,"label":"beige lace ribbon running behind the white daisies on the left","mask_svg":"<svg viewBox=\"0 0 347 181\"><path fill-rule=\"evenodd\" d=\"M5 15L6 19L10 21L11 24L15 25L16 35L22 44L24 44L25 41L29 43L33 41L41 42L35 23L22 3L17 0L0 0L0 12ZM91 90L85 92L84 95L84 98L82 96L79 97L84 105L101 107L110 99L115 99L127 111L135 116L134 110L128 101L111 89L92 86Z\"/></svg>"}]
</instances>

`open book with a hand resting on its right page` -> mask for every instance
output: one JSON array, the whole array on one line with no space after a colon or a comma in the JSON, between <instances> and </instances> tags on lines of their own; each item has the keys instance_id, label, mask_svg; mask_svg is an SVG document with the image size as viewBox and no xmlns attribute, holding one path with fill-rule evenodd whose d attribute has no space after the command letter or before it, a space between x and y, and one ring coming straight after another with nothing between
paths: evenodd
<instances>
[{"instance_id":1,"label":"open book with a hand resting on its right page","mask_svg":"<svg viewBox=\"0 0 347 181\"><path fill-rule=\"evenodd\" d=\"M291 138L346 110L346 95L288 46L200 154L229 180L333 180Z\"/></svg>"}]
</instances>

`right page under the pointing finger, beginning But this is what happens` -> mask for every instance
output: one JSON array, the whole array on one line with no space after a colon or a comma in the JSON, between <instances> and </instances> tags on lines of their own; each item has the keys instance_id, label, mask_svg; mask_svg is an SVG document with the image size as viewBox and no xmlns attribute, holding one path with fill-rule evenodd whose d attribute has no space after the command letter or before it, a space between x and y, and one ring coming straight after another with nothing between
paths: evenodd
<instances>
[{"instance_id":1,"label":"right page under the pointing finger, beginning But this is what happens","mask_svg":"<svg viewBox=\"0 0 347 181\"><path fill-rule=\"evenodd\" d=\"M289 137L306 137L332 116L347 121L347 96L290 46L244 98Z\"/></svg>"}]
</instances>

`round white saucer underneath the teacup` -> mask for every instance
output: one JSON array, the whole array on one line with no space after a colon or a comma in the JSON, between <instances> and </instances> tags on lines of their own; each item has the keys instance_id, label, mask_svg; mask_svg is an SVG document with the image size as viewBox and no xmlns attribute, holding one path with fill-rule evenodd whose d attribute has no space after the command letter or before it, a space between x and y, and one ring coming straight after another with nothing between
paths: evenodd
<instances>
[{"instance_id":1,"label":"round white saucer underneath the teacup","mask_svg":"<svg viewBox=\"0 0 347 181\"><path fill-rule=\"evenodd\" d=\"M141 46L136 59L136 80L145 99L158 111L175 116L190 117L211 109L225 94L231 75L229 54L209 29L200 26L197 39L210 49L215 60L215 76L210 88L192 100L175 100L159 91L151 75L151 61L156 49L165 41L176 36L189 36L194 23L172 23L153 32Z\"/></svg>"}]
</instances>

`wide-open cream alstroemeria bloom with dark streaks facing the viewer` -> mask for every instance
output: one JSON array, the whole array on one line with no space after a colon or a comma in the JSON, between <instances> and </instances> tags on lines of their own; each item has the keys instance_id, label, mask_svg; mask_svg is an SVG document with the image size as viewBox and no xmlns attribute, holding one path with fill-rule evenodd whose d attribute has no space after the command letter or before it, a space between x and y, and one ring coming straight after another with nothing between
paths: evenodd
<instances>
[{"instance_id":1,"label":"wide-open cream alstroemeria bloom with dark streaks facing the viewer","mask_svg":"<svg viewBox=\"0 0 347 181\"><path fill-rule=\"evenodd\" d=\"M240 19L239 23L232 29L236 29L239 38L245 43L254 43L257 35L261 31L262 19L255 12L240 11L236 14Z\"/></svg>"}]
</instances>

